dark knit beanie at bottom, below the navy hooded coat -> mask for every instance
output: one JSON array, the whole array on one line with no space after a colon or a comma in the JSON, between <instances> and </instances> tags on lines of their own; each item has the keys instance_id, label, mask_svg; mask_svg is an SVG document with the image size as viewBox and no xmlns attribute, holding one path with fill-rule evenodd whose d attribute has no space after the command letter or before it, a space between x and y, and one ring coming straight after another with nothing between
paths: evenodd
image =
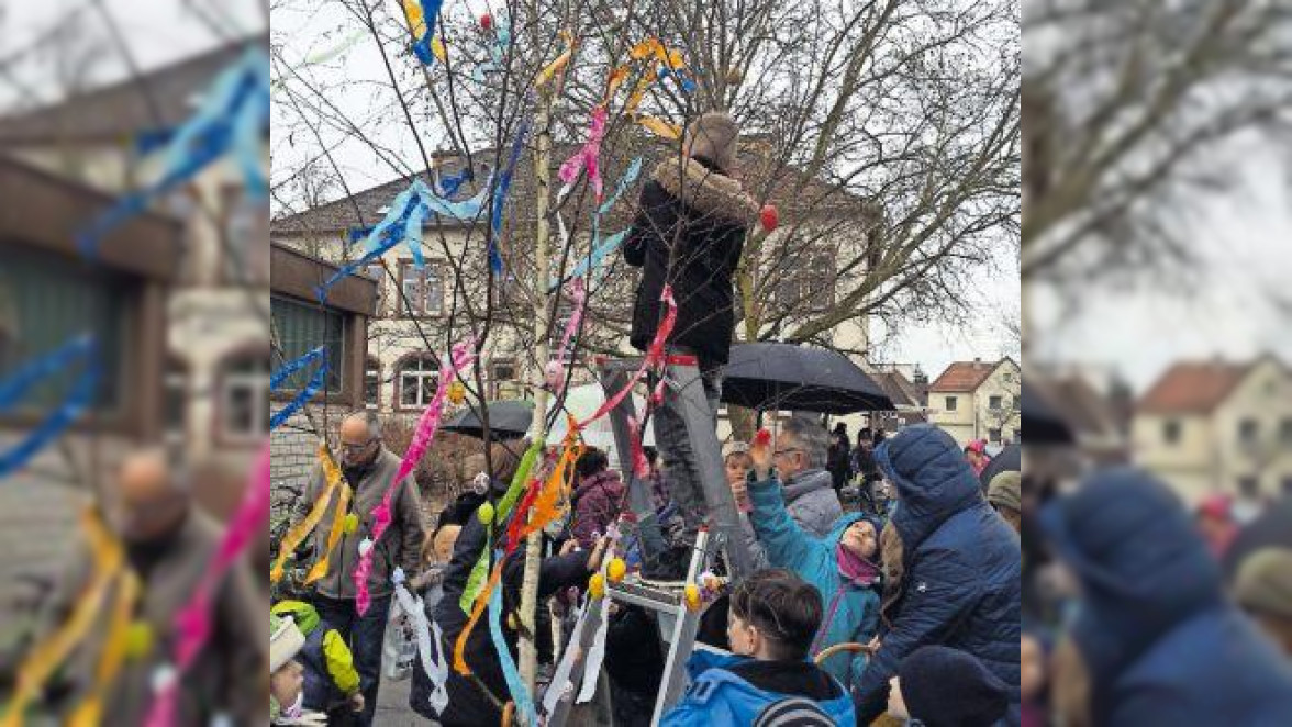
<instances>
[{"instance_id":1,"label":"dark knit beanie at bottom, below the navy hooded coat","mask_svg":"<svg viewBox=\"0 0 1292 727\"><path fill-rule=\"evenodd\" d=\"M1009 687L963 651L922 646L898 677L906 710L928 727L991 727L1009 709Z\"/></svg>"}]
</instances>

